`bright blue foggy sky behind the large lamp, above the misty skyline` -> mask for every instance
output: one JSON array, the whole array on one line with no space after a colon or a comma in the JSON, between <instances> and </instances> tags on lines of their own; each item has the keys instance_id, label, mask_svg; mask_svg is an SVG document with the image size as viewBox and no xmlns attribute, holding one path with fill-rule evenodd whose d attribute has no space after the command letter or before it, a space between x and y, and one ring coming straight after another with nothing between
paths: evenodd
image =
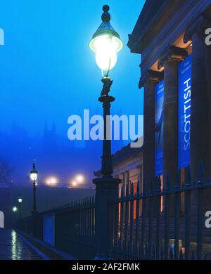
<instances>
[{"instance_id":1,"label":"bright blue foggy sky behind the large lamp, above the misty skyline","mask_svg":"<svg viewBox=\"0 0 211 274\"><path fill-rule=\"evenodd\" d=\"M129 52L132 33L144 1L130 0L8 0L0 4L0 131L23 126L30 136L56 124L67 137L68 117L84 109L101 113L101 71L89 49L101 24L103 4L110 5L111 24L124 43L110 72L112 113L143 115L143 93L138 89L140 56ZM18 138L18 136L13 136ZM99 156L101 151L98 151ZM84 150L84 155L86 151Z\"/></svg>"}]
</instances>

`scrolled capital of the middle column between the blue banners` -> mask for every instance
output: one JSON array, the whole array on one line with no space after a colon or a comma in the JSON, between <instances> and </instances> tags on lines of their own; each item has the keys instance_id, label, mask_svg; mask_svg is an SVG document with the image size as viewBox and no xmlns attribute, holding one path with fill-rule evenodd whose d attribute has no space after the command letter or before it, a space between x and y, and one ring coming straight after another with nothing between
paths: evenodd
<instances>
[{"instance_id":1,"label":"scrolled capital of the middle column between the blue banners","mask_svg":"<svg viewBox=\"0 0 211 274\"><path fill-rule=\"evenodd\" d=\"M158 61L158 70L164 67L165 63L172 60L172 61L182 61L186 57L188 57L188 52L185 48L177 48L177 46L170 46L165 50L162 57Z\"/></svg>"}]
</instances>

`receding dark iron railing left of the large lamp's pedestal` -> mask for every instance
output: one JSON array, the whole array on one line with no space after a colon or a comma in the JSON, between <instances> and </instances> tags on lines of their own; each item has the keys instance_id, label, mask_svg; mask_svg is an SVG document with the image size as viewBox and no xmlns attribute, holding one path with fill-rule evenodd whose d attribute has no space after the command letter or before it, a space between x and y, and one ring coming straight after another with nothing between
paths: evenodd
<instances>
[{"instance_id":1,"label":"receding dark iron railing left of the large lamp's pedestal","mask_svg":"<svg viewBox=\"0 0 211 274\"><path fill-rule=\"evenodd\" d=\"M18 225L19 229L45 242L44 230L48 224L45 225L44 218L47 216L53 218L53 227L47 228L53 230L50 236L53 237L51 240L53 247L77 259L94 258L96 254L94 196L23 218Z\"/></svg>"}]
</instances>

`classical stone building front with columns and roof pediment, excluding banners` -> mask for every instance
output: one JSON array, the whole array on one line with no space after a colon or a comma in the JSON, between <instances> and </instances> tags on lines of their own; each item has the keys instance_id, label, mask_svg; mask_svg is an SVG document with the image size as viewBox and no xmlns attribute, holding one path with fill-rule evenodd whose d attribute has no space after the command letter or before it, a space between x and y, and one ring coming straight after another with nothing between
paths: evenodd
<instances>
[{"instance_id":1,"label":"classical stone building front with columns and roof pediment, excluding banners","mask_svg":"<svg viewBox=\"0 0 211 274\"><path fill-rule=\"evenodd\" d=\"M155 176L155 89L164 80L162 173L165 185L179 176L184 183L186 167L179 168L179 65L191 56L191 180L198 181L200 163L204 180L211 178L211 46L205 43L211 27L211 0L146 0L128 46L141 55L144 89L143 180L146 188ZM147 190L147 189L146 189ZM210 192L204 193L205 210L211 209ZM194 209L193 197L193 209Z\"/></svg>"}]
</instances>

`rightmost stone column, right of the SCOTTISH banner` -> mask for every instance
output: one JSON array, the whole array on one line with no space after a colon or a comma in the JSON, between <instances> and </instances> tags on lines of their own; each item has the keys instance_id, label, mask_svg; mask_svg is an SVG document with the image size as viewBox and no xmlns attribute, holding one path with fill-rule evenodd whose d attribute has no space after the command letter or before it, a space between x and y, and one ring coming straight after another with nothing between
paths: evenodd
<instances>
[{"instance_id":1,"label":"rightmost stone column, right of the SCOTTISH banner","mask_svg":"<svg viewBox=\"0 0 211 274\"><path fill-rule=\"evenodd\" d=\"M211 45L205 44L210 18L200 16L186 30L184 42L192 40L191 84L191 178L198 181L200 162L204 180L211 178ZM204 210L210 210L211 190L204 192ZM193 196L196 204L196 197Z\"/></svg>"}]
</instances>

